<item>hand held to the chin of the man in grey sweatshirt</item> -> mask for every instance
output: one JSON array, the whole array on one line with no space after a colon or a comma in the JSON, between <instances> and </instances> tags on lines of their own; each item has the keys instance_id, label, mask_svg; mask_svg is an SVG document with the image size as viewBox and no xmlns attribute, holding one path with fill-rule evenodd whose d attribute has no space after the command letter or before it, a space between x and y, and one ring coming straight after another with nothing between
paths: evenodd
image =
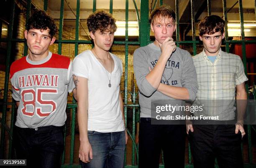
<instances>
[{"instance_id":1,"label":"hand held to the chin of the man in grey sweatshirt","mask_svg":"<svg viewBox=\"0 0 256 168\"><path fill-rule=\"evenodd\" d=\"M161 49L161 55L164 55L165 57L167 57L168 59L170 58L170 56L172 55L172 52L175 51L176 49L176 45L175 42L173 41L173 38L171 37L167 37L164 42L162 43L162 45L160 46Z\"/></svg>"}]
</instances>

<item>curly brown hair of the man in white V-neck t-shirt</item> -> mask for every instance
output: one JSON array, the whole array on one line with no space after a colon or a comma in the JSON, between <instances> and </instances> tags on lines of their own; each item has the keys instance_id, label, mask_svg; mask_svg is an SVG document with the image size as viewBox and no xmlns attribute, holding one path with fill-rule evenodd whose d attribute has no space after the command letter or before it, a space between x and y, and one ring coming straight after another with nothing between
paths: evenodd
<instances>
[{"instance_id":1,"label":"curly brown hair of the man in white V-neck t-shirt","mask_svg":"<svg viewBox=\"0 0 256 168\"><path fill-rule=\"evenodd\" d=\"M87 27L89 32L92 33L95 33L97 30L101 32L106 30L115 32L117 29L115 21L115 18L105 10L97 10L87 18Z\"/></svg>"}]
</instances>

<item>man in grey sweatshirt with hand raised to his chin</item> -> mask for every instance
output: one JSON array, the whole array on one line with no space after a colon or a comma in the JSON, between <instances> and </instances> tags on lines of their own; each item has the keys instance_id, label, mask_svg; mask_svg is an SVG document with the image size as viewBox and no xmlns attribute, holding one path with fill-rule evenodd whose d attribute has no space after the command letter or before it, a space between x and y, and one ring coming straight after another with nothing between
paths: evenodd
<instances>
[{"instance_id":1,"label":"man in grey sweatshirt with hand raised to his chin","mask_svg":"<svg viewBox=\"0 0 256 168\"><path fill-rule=\"evenodd\" d=\"M184 168L185 125L151 124L152 100L195 99L197 74L189 52L175 46L175 13L166 6L150 15L154 43L138 48L133 55L133 67L139 88L141 119L139 130L139 167L158 168L161 149L165 168ZM161 102L161 101L160 101ZM181 104L181 103L179 103Z\"/></svg>"}]
</instances>

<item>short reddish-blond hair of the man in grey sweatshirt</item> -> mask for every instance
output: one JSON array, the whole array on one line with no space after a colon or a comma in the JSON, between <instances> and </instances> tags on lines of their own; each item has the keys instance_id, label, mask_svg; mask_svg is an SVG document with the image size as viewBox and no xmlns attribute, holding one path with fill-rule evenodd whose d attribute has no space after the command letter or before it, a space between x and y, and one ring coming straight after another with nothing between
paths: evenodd
<instances>
[{"instance_id":1,"label":"short reddish-blond hair of the man in grey sweatshirt","mask_svg":"<svg viewBox=\"0 0 256 168\"><path fill-rule=\"evenodd\" d=\"M161 18L161 17L171 18L174 23L176 22L176 14L172 10L172 8L170 8L169 6L163 5L163 6L159 6L158 8L154 9L150 14L149 21L151 24L154 24L155 18Z\"/></svg>"}]
</instances>

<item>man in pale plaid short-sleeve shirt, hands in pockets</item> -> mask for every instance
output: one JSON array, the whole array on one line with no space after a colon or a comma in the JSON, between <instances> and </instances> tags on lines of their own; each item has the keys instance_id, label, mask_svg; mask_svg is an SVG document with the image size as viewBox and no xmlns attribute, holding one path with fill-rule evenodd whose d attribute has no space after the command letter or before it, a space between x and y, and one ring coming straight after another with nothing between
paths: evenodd
<instances>
[{"instance_id":1,"label":"man in pale plaid short-sleeve shirt, hands in pockets","mask_svg":"<svg viewBox=\"0 0 256 168\"><path fill-rule=\"evenodd\" d=\"M241 140L248 79L240 56L221 51L224 28L225 21L217 15L205 17L198 25L204 49L193 57L199 86L193 105L203 110L194 115L216 120L187 124L195 168L214 168L215 158L220 168L243 168Z\"/></svg>"}]
</instances>

